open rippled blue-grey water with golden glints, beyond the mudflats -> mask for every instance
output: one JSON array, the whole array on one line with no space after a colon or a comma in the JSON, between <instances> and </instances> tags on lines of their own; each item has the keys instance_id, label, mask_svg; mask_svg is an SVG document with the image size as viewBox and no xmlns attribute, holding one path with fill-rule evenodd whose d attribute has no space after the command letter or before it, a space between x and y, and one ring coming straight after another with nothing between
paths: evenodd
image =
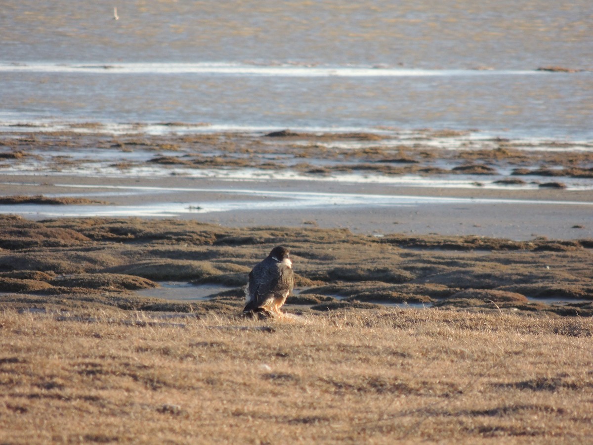
<instances>
[{"instance_id":1,"label":"open rippled blue-grey water with golden glints, beyond the mudflats","mask_svg":"<svg viewBox=\"0 0 593 445\"><path fill-rule=\"evenodd\" d=\"M3 3L0 123L593 138L588 0Z\"/></svg>"}]
</instances>

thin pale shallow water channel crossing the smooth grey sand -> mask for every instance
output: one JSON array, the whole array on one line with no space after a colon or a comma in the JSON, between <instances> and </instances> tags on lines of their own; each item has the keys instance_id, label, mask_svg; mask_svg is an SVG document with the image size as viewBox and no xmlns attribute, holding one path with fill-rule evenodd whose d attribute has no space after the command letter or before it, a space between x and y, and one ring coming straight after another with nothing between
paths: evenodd
<instances>
[{"instance_id":1,"label":"thin pale shallow water channel crossing the smooth grey sand","mask_svg":"<svg viewBox=\"0 0 593 445\"><path fill-rule=\"evenodd\" d=\"M59 184L56 186L60 186ZM68 185L68 187L74 187ZM136 205L52 205L52 204L14 204L1 205L0 214L19 214L27 217L44 215L46 217L171 217L184 214L209 214L212 212L240 212L250 211L295 211L298 209L327 209L333 208L405 208L419 205L534 205L553 208L557 205L578 206L591 208L593 202L582 201L545 201L542 199L505 199L505 198L456 198L453 196L406 196L406 195L377 195L372 193L329 193L329 192L299 192L295 190L254 190L232 187L229 189L213 189L199 187L145 187L145 186L81 186L85 189L110 190L107 193L70 193L46 196L76 196L100 197L117 196L120 190L126 194L149 196L162 194L161 202L148 202ZM111 194L111 190L115 190ZM129 193L128 193L129 192ZM169 196L177 197L178 193L192 193L195 201L172 201ZM216 193L213 199L202 198L206 194ZM223 199L221 199L224 197ZM248 204L247 204L248 202Z\"/></svg>"}]
</instances>

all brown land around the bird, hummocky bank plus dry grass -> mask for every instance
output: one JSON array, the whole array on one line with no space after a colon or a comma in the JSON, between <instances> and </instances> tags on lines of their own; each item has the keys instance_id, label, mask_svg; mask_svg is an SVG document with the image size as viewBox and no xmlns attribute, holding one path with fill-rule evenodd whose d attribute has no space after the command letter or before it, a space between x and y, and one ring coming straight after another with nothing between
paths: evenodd
<instances>
[{"instance_id":1,"label":"all brown land around the bird, hummocky bank plus dry grass","mask_svg":"<svg viewBox=\"0 0 593 445\"><path fill-rule=\"evenodd\" d=\"M593 440L591 240L0 223L1 444ZM276 244L289 316L242 319ZM138 294L162 281L228 290Z\"/></svg>"}]
</instances>

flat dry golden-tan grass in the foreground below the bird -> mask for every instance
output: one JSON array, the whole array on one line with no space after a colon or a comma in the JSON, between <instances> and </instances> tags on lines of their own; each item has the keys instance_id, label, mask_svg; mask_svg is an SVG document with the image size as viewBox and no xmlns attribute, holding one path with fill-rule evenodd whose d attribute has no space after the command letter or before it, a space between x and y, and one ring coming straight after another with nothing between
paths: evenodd
<instances>
[{"instance_id":1,"label":"flat dry golden-tan grass in the foreground below the bird","mask_svg":"<svg viewBox=\"0 0 593 445\"><path fill-rule=\"evenodd\" d=\"M593 436L591 319L359 310L262 330L232 316L97 318L0 314L1 443Z\"/></svg>"}]
</instances>

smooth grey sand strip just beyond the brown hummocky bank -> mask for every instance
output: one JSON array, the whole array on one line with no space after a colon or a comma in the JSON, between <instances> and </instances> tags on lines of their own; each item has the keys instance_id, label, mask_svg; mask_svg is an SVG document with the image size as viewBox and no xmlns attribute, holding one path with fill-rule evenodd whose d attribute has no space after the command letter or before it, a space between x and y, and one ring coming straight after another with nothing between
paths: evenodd
<instances>
[{"instance_id":1,"label":"smooth grey sand strip just beyond the brown hummocky bank","mask_svg":"<svg viewBox=\"0 0 593 445\"><path fill-rule=\"evenodd\" d=\"M58 186L56 186L58 185ZM70 187L75 186L75 187ZM85 187L89 186L89 187ZM122 187L101 188L100 186ZM141 188L141 192L138 191ZM152 190L151 190L152 189ZM287 193L329 193L340 195L382 195L387 202L374 204L329 204L310 207L295 204L269 210L250 209L250 202L285 198L262 193L251 195L244 190ZM77 176L5 176L0 195L72 195L107 201L119 208L168 203L180 204L180 210L167 209L169 217L190 218L228 227L302 225L323 228L349 228L366 234L442 234L476 235L529 240L585 239L593 237L593 192L581 190L505 190L433 187L398 187L380 184L333 183L298 180L219 180L187 177L164 178L95 178ZM402 199L403 198L403 199ZM431 199L433 198L433 199ZM459 198L458 201L448 198ZM364 199L364 198L363 198ZM188 210L208 201L218 204L244 201L243 208L202 213ZM442 200L439 202L439 200ZM391 202L390 202L391 201ZM183 203L186 203L184 206ZM97 206L97 212L113 206ZM77 212L80 206L0 206L4 213L23 211L30 219L43 219L60 212ZM92 214L92 209L90 210Z\"/></svg>"}]
</instances>

